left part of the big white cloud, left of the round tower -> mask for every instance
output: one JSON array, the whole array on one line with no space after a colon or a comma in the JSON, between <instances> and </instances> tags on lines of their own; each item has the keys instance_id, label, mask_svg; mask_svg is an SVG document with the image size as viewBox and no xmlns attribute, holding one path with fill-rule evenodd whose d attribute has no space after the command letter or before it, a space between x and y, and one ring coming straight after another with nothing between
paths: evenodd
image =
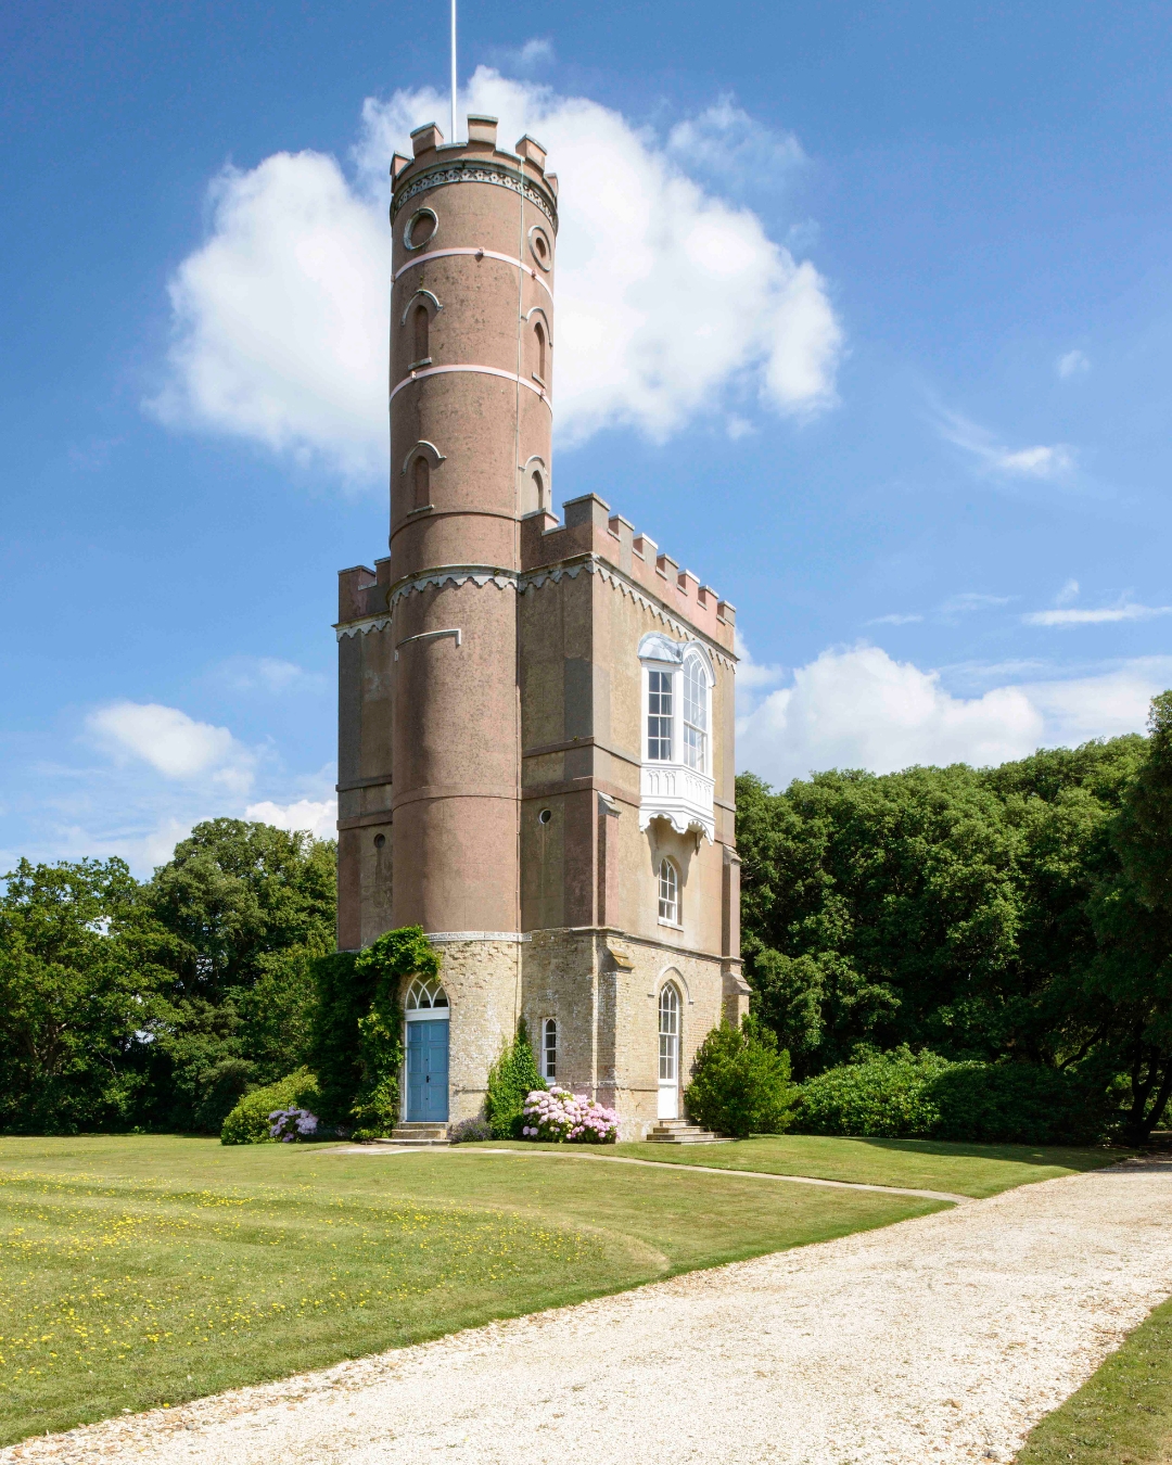
<instances>
[{"instance_id":1,"label":"left part of the big white cloud, left of the round tower","mask_svg":"<svg viewBox=\"0 0 1172 1465\"><path fill-rule=\"evenodd\" d=\"M149 409L372 476L387 457L382 211L318 152L224 168L209 196L209 237L168 286L171 374Z\"/></svg>"}]
</instances>

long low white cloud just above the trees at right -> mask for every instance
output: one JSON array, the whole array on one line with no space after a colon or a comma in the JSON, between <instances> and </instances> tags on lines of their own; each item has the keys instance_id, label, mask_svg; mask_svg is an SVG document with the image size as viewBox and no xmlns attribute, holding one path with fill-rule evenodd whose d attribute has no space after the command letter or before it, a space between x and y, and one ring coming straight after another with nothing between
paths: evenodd
<instances>
[{"instance_id":1,"label":"long low white cloud just above the trees at right","mask_svg":"<svg viewBox=\"0 0 1172 1465\"><path fill-rule=\"evenodd\" d=\"M740 716L737 760L775 785L828 768L999 763L1036 747L1141 732L1150 699L1169 684L1172 656L1150 656L960 697L939 672L878 646L825 650Z\"/></svg>"}]
</instances>

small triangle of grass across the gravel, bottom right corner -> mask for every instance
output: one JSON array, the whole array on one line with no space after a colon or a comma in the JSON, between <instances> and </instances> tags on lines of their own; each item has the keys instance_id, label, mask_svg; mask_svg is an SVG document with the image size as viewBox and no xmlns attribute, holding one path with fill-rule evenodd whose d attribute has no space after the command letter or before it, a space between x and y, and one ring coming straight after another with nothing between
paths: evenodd
<instances>
[{"instance_id":1,"label":"small triangle of grass across the gravel, bottom right corner","mask_svg":"<svg viewBox=\"0 0 1172 1465\"><path fill-rule=\"evenodd\" d=\"M1030 1433L1017 1465L1172 1461L1172 1301Z\"/></svg>"}]
</instances>

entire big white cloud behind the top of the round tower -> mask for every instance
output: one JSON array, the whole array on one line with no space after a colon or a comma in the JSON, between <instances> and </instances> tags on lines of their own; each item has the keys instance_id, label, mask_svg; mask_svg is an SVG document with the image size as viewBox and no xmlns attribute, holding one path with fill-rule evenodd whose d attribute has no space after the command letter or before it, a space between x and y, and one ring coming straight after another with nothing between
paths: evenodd
<instances>
[{"instance_id":1,"label":"entire big white cloud behind the top of the round tower","mask_svg":"<svg viewBox=\"0 0 1172 1465\"><path fill-rule=\"evenodd\" d=\"M667 144L488 67L460 104L498 116L505 146L539 136L560 177L563 441L615 425L664 440L697 415L727 418L731 400L791 416L834 403L842 330L825 280L690 176L722 148L762 146L730 101ZM212 185L208 239L170 284L170 377L149 403L164 422L318 456L355 479L385 469L387 167L447 104L400 91L362 116L355 179L318 152L280 152ZM784 166L800 155L793 139L768 148Z\"/></svg>"}]
</instances>

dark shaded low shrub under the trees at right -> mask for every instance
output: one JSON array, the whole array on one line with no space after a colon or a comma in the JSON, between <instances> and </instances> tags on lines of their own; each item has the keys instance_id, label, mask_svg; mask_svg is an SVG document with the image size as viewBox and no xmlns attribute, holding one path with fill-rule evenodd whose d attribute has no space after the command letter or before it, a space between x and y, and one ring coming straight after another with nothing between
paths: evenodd
<instances>
[{"instance_id":1,"label":"dark shaded low shrub under the trees at right","mask_svg":"<svg viewBox=\"0 0 1172 1465\"><path fill-rule=\"evenodd\" d=\"M1040 1064L955 1064L932 1081L938 1140L1094 1144L1106 1115L1069 1074Z\"/></svg>"}]
</instances>

